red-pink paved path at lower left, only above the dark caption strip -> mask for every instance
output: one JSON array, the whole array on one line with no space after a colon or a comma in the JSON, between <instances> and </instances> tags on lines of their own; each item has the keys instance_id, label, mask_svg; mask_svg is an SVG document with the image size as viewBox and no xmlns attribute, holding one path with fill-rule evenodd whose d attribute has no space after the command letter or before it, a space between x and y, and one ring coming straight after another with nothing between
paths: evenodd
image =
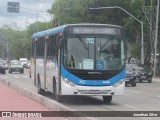
<instances>
[{"instance_id":1,"label":"red-pink paved path at lower left, only above the dark caption strip","mask_svg":"<svg viewBox=\"0 0 160 120\"><path fill-rule=\"evenodd\" d=\"M0 111L47 111L43 105L0 83Z\"/></svg>"}]
</instances>

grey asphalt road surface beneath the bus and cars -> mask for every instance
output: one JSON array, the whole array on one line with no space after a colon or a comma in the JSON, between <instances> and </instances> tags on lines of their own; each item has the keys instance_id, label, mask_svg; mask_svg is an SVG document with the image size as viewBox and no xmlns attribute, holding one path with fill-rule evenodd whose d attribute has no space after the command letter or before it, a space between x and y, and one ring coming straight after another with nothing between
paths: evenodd
<instances>
[{"instance_id":1,"label":"grey asphalt road surface beneath the bus and cars","mask_svg":"<svg viewBox=\"0 0 160 120\"><path fill-rule=\"evenodd\" d=\"M13 73L6 75L0 74L0 78L8 80L16 85L25 87L37 92L31 79L28 77L28 71L24 74ZM50 95L46 97L53 99ZM154 78L152 83L137 83L136 87L128 85L124 96L114 96L112 103L104 104L102 97L88 96L67 96L64 97L63 105L77 111L160 111L160 79ZM106 120L106 117L97 117L97 119ZM107 117L107 120L155 120L159 117Z\"/></svg>"}]
</instances>

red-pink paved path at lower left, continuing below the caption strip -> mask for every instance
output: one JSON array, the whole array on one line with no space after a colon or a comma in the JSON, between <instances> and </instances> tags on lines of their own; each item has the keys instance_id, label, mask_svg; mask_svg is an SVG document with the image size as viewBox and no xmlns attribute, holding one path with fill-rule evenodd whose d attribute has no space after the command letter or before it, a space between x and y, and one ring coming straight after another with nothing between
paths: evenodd
<instances>
[{"instance_id":1,"label":"red-pink paved path at lower left, continuing below the caption strip","mask_svg":"<svg viewBox=\"0 0 160 120\"><path fill-rule=\"evenodd\" d=\"M43 105L23 96L22 94L18 93L17 91L5 86L4 84L0 83L0 111L4 111L4 113L10 112L10 111L50 111L48 108L44 107ZM7 117L2 115L2 112L0 113L1 116L5 117L0 117L0 120L3 119L11 119L11 120L17 120L20 119L19 117ZM59 115L57 115L59 116ZM7 118L6 118L7 117ZM42 116L43 117L43 116ZM22 118L21 118L22 119ZM24 118L23 118L24 119ZM64 117L43 117L40 118L25 118L27 120L66 120Z\"/></svg>"}]
</instances>

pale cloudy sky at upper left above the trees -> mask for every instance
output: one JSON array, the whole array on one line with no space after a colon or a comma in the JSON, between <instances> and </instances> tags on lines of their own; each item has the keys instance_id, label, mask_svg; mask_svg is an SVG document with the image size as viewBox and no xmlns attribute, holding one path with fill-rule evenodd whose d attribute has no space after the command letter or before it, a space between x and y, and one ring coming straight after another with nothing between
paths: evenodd
<instances>
[{"instance_id":1,"label":"pale cloudy sky at upper left above the trees","mask_svg":"<svg viewBox=\"0 0 160 120\"><path fill-rule=\"evenodd\" d=\"M8 2L19 2L19 13L7 12ZM45 11L51 8L52 3L53 0L0 0L0 27L16 23L19 28L25 29L37 21L37 13L38 21L49 21L51 16Z\"/></svg>"}]
</instances>

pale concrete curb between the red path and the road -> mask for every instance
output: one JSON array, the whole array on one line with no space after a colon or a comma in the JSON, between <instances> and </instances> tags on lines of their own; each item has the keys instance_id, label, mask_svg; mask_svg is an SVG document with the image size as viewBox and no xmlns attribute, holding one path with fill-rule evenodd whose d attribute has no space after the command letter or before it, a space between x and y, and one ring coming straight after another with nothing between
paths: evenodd
<instances>
[{"instance_id":1,"label":"pale concrete curb between the red path and the road","mask_svg":"<svg viewBox=\"0 0 160 120\"><path fill-rule=\"evenodd\" d=\"M14 83L11 83L7 80L0 79L0 82L5 84L6 86L16 90L17 92L21 93L22 95L44 105L48 109L52 111L76 111L74 109L71 109L65 105L62 105L58 103L57 101L54 101L52 99L49 99L45 96L39 95L38 93L32 92L26 88L19 87L18 85L15 85ZM76 111L78 112L78 111ZM79 114L81 115L81 114ZM84 116L84 115L82 115ZM62 116L63 117L63 116ZM66 117L68 120L96 120L95 118L91 117Z\"/></svg>"}]
</instances>

